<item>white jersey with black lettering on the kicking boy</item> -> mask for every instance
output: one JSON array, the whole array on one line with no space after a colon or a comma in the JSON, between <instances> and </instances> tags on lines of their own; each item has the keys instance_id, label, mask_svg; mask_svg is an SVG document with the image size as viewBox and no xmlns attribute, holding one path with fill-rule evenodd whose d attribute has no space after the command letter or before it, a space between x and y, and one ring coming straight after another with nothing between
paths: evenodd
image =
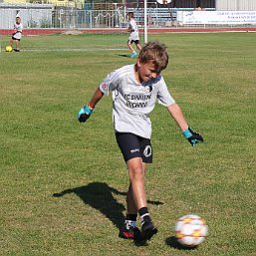
<instances>
[{"instance_id":1,"label":"white jersey with black lettering on the kicking boy","mask_svg":"<svg viewBox=\"0 0 256 256\"><path fill-rule=\"evenodd\" d=\"M101 83L100 90L104 95L112 91L115 130L145 138L151 136L149 114L156 100L165 107L175 103L162 76L139 84L135 80L133 65L124 66L108 75Z\"/></svg>"}]
</instances>

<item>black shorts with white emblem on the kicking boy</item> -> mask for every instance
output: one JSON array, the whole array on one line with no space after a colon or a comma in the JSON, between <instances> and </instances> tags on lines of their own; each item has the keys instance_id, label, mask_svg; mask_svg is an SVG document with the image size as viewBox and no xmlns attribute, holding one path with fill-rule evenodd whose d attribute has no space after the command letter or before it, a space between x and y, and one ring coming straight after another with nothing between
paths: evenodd
<instances>
[{"instance_id":1,"label":"black shorts with white emblem on the kicking boy","mask_svg":"<svg viewBox=\"0 0 256 256\"><path fill-rule=\"evenodd\" d=\"M143 162L152 162L152 146L149 138L144 138L129 132L116 132L117 142L125 161L141 157Z\"/></svg>"}]
</instances>

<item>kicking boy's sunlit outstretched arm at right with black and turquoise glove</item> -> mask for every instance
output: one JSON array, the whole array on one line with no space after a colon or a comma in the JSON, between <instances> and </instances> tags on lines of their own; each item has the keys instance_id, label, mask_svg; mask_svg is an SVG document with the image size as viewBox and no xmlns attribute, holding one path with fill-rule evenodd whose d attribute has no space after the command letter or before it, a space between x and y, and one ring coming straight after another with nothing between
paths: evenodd
<instances>
[{"instance_id":1,"label":"kicking boy's sunlit outstretched arm at right with black and turquoise glove","mask_svg":"<svg viewBox=\"0 0 256 256\"><path fill-rule=\"evenodd\" d=\"M203 142L202 136L188 127L182 111L176 103L168 106L167 110L192 146L196 143Z\"/></svg>"}]
</instances>

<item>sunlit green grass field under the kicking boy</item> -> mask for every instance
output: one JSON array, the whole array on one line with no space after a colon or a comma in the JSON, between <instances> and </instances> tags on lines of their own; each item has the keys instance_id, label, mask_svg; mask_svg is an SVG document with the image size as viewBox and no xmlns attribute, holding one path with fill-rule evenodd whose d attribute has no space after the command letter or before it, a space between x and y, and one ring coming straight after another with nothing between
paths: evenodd
<instances>
[{"instance_id":1,"label":"sunlit green grass field under the kicking boy","mask_svg":"<svg viewBox=\"0 0 256 256\"><path fill-rule=\"evenodd\" d=\"M146 191L158 234L147 246L118 237L128 173L111 97L87 124L77 122L102 79L134 62L126 57L127 35L103 42L93 35L24 37L28 51L0 54L0 255L256 255L256 34L148 39L167 45L165 81L205 138L193 148L163 107L151 115ZM90 51L53 51L85 43ZM104 51L109 43L118 50ZM206 241L194 250L173 239L184 214L208 223Z\"/></svg>"}]
</instances>

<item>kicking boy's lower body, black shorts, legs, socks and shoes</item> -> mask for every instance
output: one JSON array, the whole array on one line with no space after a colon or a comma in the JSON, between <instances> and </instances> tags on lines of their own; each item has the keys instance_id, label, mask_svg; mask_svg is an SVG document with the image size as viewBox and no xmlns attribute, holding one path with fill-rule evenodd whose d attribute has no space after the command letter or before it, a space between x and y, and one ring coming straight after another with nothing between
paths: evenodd
<instances>
[{"instance_id":1,"label":"kicking boy's lower body, black shorts, legs, socks and shoes","mask_svg":"<svg viewBox=\"0 0 256 256\"><path fill-rule=\"evenodd\" d=\"M116 133L117 142L122 150L128 165L129 187L127 194L128 215L125 226L121 229L120 236L124 238L136 238L134 236L137 212L141 219L142 232L138 238L149 240L157 232L151 223L146 207L146 196L144 189L145 162L151 162L152 153L149 139L139 138L132 133ZM134 150L139 148L139 150ZM147 149L146 149L147 148ZM150 150L148 151L148 148ZM141 152L143 152L141 154ZM131 225L133 226L131 227ZM131 227L131 228L130 228Z\"/></svg>"}]
</instances>

